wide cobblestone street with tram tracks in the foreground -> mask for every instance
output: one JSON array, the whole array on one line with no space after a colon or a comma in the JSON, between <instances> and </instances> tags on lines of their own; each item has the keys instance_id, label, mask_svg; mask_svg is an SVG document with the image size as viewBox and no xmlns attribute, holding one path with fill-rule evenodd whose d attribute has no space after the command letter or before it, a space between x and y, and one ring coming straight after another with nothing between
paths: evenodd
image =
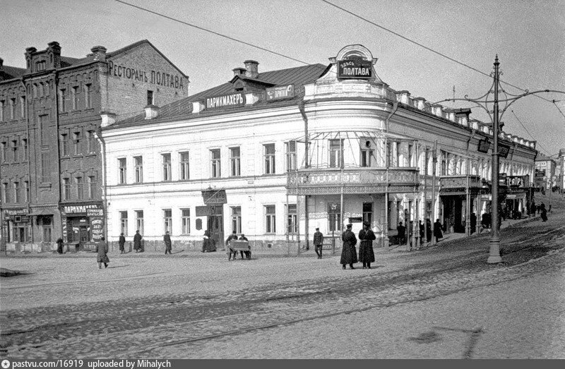
<instances>
[{"instance_id":1,"label":"wide cobblestone street with tram tracks in the foreground","mask_svg":"<svg viewBox=\"0 0 565 369\"><path fill-rule=\"evenodd\" d=\"M371 270L222 252L1 259L9 358L565 358L562 214L420 251L376 249Z\"/></svg>"}]
</instances>

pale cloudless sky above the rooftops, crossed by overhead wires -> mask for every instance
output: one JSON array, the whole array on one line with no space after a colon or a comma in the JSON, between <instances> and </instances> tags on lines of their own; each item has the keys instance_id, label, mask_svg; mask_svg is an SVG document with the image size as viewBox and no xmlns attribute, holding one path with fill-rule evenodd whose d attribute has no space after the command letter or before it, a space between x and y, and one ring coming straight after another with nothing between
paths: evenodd
<instances>
[{"instance_id":1,"label":"pale cloudless sky above the rooftops, crossed by overhead wires","mask_svg":"<svg viewBox=\"0 0 565 369\"><path fill-rule=\"evenodd\" d=\"M321 0L124 1L307 63L327 65L346 45L362 44L379 59L375 69L384 82L430 102L453 97L453 85L463 98L480 97L492 84ZM498 54L501 80L512 85L565 91L565 0L328 1L484 73ZM0 0L4 65L25 68L25 48L45 49L52 41L64 56L83 57L95 45L114 51L143 39L189 75L190 95L227 82L247 59L259 62L260 73L304 65L115 0ZM565 94L541 96L560 100L565 114ZM472 111L489 121L481 109ZM565 116L551 102L523 97L501 120L506 133L537 140L544 155L565 148Z\"/></svg>"}]
</instances>

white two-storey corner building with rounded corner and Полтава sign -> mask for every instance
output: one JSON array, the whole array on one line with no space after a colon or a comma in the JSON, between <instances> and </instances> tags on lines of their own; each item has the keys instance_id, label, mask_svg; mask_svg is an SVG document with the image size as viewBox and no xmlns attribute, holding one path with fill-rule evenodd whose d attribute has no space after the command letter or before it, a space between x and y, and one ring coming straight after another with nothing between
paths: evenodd
<instances>
[{"instance_id":1,"label":"white two-storey corner building with rounded corner and \u041f\u043e\u043b\u0442\u0430\u0432\u0430 sign","mask_svg":"<svg viewBox=\"0 0 565 369\"><path fill-rule=\"evenodd\" d=\"M316 227L333 242L344 224L367 221L386 246L398 222L426 218L472 233L470 214L490 207L489 124L393 90L362 45L330 61L264 73L246 61L218 87L104 117L109 239L140 230L161 248L169 231L198 249L208 229L220 244L236 231L255 248L290 251ZM500 142L501 173L525 193L535 143L506 133Z\"/></svg>"}]
</instances>

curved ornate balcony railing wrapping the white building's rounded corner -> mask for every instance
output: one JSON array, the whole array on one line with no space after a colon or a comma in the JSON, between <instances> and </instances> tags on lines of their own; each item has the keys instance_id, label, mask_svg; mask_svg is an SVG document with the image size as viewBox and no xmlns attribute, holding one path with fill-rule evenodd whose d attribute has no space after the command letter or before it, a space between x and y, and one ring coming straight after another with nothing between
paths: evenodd
<instances>
[{"instance_id":1,"label":"curved ornate balcony railing wrapping the white building's rounded corner","mask_svg":"<svg viewBox=\"0 0 565 369\"><path fill-rule=\"evenodd\" d=\"M417 168L302 168L287 174L288 195L338 195L415 192Z\"/></svg>"}]
</instances>

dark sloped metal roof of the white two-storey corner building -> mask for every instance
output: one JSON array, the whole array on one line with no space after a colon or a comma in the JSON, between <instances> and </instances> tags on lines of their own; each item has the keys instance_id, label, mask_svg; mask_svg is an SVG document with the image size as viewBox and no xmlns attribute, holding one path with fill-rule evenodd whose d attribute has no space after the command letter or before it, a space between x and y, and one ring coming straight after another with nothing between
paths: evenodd
<instances>
[{"instance_id":1,"label":"dark sloped metal roof of the white two-storey corner building","mask_svg":"<svg viewBox=\"0 0 565 369\"><path fill-rule=\"evenodd\" d=\"M114 127L138 126L145 123L165 122L172 121L174 119L190 119L202 116L213 116L226 114L227 112L233 113L234 111L250 111L261 109L262 107L264 108L267 106L275 107L296 104L297 100L300 100L302 99L302 97L304 97L304 85L314 82L314 80L320 77L323 71L326 71L325 65L311 64L309 66L299 66L296 68L281 69L279 71L259 73L256 78L258 80L272 83L273 85L295 85L295 97L289 99L274 100L272 102L266 102L264 99L261 99L259 102L256 102L256 104L249 107L234 107L226 109L214 109L209 111L204 110L196 116L189 116L189 114L192 113L192 102L203 101L206 99L206 97L229 95L233 93L233 84L227 82L160 107L159 116L157 116L157 118L155 119L145 120L145 114L139 114L129 119L118 121L117 123L114 123L112 124L112 126L109 126L105 129L111 129Z\"/></svg>"}]
</instances>

